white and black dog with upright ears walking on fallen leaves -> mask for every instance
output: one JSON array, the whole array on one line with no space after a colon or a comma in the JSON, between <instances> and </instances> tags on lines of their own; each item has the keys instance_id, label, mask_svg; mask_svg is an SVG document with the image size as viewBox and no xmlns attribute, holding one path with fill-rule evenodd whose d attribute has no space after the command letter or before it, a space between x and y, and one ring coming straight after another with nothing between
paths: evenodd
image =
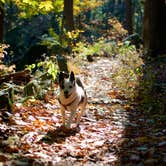
<instances>
[{"instance_id":1,"label":"white and black dog with upright ears walking on fallen leaves","mask_svg":"<svg viewBox=\"0 0 166 166\"><path fill-rule=\"evenodd\" d=\"M63 72L60 72L58 82L60 89L58 101L61 107L62 124L63 126L70 128L77 110L80 108L76 121L76 125L79 126L80 119L84 115L85 107L87 105L87 95L83 84L79 78L75 78L73 71L71 71L68 76ZM67 123L65 123L65 111L70 112Z\"/></svg>"}]
</instances>

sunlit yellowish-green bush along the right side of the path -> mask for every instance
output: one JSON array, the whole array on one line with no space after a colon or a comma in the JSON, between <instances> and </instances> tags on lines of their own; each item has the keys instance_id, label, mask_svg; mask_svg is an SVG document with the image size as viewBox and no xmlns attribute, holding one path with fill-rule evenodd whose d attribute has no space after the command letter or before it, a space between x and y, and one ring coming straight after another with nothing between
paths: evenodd
<instances>
[{"instance_id":1,"label":"sunlit yellowish-green bush along the right side of the path","mask_svg":"<svg viewBox=\"0 0 166 166\"><path fill-rule=\"evenodd\" d=\"M116 56L117 63L115 74L113 75L115 85L121 89L127 98L134 99L138 93L139 78L143 75L140 53L134 46L126 43L118 48ZM136 90L137 89L137 90Z\"/></svg>"}]
</instances>

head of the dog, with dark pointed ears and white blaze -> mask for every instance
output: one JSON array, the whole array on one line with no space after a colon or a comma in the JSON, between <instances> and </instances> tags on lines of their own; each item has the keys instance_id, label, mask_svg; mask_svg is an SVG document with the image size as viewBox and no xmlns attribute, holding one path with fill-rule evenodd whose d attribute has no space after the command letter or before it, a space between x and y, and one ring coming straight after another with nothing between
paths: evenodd
<instances>
[{"instance_id":1,"label":"head of the dog, with dark pointed ears and white blaze","mask_svg":"<svg viewBox=\"0 0 166 166\"><path fill-rule=\"evenodd\" d=\"M68 77L64 75L63 72L59 74L59 86L60 86L60 93L65 98L69 98L76 90L75 87L75 76L73 71L70 73Z\"/></svg>"}]
</instances>

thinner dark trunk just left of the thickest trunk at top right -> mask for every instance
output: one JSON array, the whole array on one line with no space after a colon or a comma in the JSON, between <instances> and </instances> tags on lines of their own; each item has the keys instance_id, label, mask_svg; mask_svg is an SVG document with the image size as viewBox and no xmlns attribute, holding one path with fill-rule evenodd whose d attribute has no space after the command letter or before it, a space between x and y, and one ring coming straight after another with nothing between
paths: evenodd
<instances>
[{"instance_id":1,"label":"thinner dark trunk just left of the thickest trunk at top right","mask_svg":"<svg viewBox=\"0 0 166 166\"><path fill-rule=\"evenodd\" d=\"M129 35L133 33L133 6L132 0L125 0L126 6L126 29L128 30Z\"/></svg>"}]
</instances>

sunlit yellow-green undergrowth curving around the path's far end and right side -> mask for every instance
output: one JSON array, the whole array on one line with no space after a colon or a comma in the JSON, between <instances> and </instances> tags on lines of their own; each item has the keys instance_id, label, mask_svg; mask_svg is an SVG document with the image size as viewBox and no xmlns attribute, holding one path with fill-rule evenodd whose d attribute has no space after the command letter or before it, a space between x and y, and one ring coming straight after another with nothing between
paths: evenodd
<instances>
[{"instance_id":1,"label":"sunlit yellow-green undergrowth curving around the path's far end and right side","mask_svg":"<svg viewBox=\"0 0 166 166\"><path fill-rule=\"evenodd\" d=\"M73 49L77 58L86 59L87 56L113 58L115 61L113 79L115 86L126 98L134 99L138 93L140 77L143 75L143 60L141 50L137 50L130 42L107 41L100 38L94 44L79 42Z\"/></svg>"}]
</instances>

